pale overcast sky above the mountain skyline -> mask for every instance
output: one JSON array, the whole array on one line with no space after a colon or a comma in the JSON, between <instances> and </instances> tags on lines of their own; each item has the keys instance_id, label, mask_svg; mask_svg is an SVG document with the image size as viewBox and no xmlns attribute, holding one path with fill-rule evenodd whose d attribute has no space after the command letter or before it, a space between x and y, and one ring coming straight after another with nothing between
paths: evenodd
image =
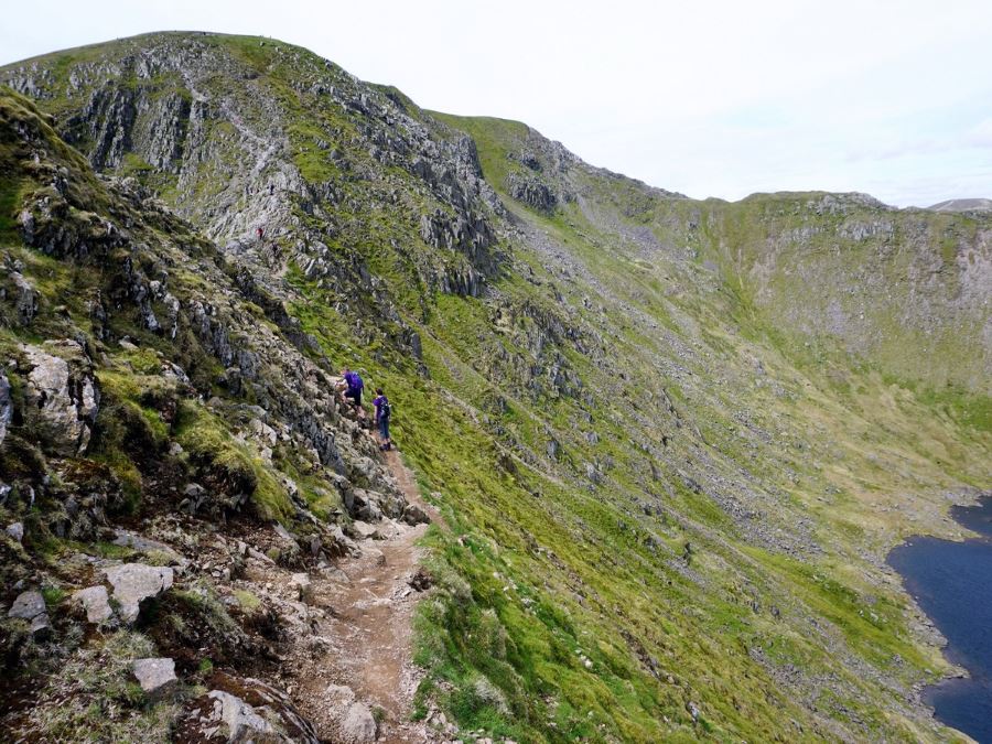
<instances>
[{"instance_id":1,"label":"pale overcast sky above the mountain skyline","mask_svg":"<svg viewBox=\"0 0 992 744\"><path fill-rule=\"evenodd\" d=\"M32 0L0 63L164 29L300 44L690 196L992 197L992 0Z\"/></svg>"}]
</instances>

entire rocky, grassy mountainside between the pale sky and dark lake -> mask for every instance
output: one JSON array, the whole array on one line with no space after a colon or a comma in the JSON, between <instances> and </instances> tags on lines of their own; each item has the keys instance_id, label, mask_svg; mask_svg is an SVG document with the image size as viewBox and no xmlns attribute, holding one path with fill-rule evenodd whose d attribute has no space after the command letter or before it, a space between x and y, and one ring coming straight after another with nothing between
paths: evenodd
<instances>
[{"instance_id":1,"label":"entire rocky, grassy mountainside between the pale sky and dark lake","mask_svg":"<svg viewBox=\"0 0 992 744\"><path fill-rule=\"evenodd\" d=\"M267 39L0 83L8 731L956 735L884 559L990 482L992 218L693 201Z\"/></svg>"}]
</instances>

